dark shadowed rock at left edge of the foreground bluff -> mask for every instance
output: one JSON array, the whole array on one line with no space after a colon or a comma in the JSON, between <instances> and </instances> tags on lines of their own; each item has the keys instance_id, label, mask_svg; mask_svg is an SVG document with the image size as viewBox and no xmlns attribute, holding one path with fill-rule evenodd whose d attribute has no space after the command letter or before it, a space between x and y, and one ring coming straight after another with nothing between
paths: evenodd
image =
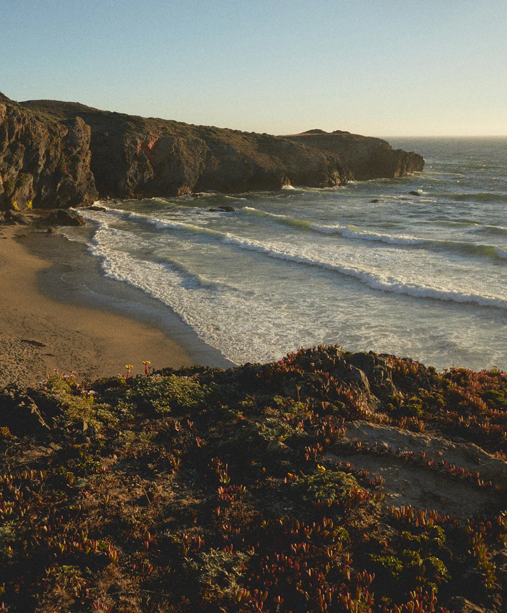
<instances>
[{"instance_id":1,"label":"dark shadowed rock at left edge of the foreground bluff","mask_svg":"<svg viewBox=\"0 0 507 613\"><path fill-rule=\"evenodd\" d=\"M17 386L0 391L0 424L15 436L36 435L49 430L34 400Z\"/></svg>"}]
</instances>

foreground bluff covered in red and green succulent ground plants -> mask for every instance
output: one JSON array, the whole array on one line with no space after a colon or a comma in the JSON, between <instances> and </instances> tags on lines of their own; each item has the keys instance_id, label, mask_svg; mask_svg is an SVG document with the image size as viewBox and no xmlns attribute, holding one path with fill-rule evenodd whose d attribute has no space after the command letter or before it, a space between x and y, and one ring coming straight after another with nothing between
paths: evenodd
<instances>
[{"instance_id":1,"label":"foreground bluff covered in red and green succulent ground plants","mask_svg":"<svg viewBox=\"0 0 507 613\"><path fill-rule=\"evenodd\" d=\"M503 371L148 366L0 390L0 611L504 610Z\"/></svg>"}]
</instances>

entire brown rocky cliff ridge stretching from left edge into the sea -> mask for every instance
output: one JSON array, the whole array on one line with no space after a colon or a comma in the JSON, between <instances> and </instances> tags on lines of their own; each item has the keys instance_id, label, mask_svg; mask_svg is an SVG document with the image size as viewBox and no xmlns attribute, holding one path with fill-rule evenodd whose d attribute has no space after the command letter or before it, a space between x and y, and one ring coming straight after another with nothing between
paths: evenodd
<instances>
[{"instance_id":1,"label":"entire brown rocky cliff ridge stretching from left edge into the sea","mask_svg":"<svg viewBox=\"0 0 507 613\"><path fill-rule=\"evenodd\" d=\"M0 210L105 197L331 187L422 170L415 153L348 132L272 136L0 94Z\"/></svg>"}]
</instances>

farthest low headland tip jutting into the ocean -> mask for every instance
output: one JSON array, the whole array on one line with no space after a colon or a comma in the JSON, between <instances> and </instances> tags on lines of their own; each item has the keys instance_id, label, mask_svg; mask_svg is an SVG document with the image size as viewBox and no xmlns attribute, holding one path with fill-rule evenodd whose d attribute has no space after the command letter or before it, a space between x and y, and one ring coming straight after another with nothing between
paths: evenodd
<instances>
[{"instance_id":1,"label":"farthest low headland tip jutting into the ocean","mask_svg":"<svg viewBox=\"0 0 507 613\"><path fill-rule=\"evenodd\" d=\"M393 149L386 140L350 132L310 130L284 138L306 147L336 153L356 181L403 177L420 172L424 167L424 159L417 153Z\"/></svg>"}]
</instances>

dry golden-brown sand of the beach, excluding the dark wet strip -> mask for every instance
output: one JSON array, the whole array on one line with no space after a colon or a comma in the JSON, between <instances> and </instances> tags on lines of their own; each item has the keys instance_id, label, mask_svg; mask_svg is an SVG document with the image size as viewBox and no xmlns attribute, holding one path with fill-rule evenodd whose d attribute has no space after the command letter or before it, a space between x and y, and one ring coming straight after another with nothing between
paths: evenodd
<instances>
[{"instance_id":1,"label":"dry golden-brown sand of the beach, excluding the dark wet strip","mask_svg":"<svg viewBox=\"0 0 507 613\"><path fill-rule=\"evenodd\" d=\"M0 226L0 389L9 383L32 385L54 368L97 378L124 373L126 364L133 365L132 375L141 373L143 360L154 368L194 363L167 330L40 292L39 277L52 263L30 253L23 242L43 232L35 225Z\"/></svg>"}]
</instances>

